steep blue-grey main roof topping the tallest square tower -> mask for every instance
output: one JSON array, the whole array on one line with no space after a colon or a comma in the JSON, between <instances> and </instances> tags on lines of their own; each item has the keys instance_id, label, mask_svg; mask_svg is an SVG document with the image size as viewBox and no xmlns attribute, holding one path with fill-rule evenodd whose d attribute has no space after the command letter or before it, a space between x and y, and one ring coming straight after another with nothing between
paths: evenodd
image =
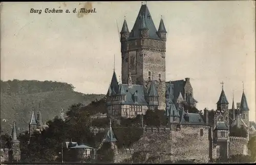
<instances>
[{"instance_id":1,"label":"steep blue-grey main roof topping the tallest square tower","mask_svg":"<svg viewBox=\"0 0 256 165\"><path fill-rule=\"evenodd\" d=\"M142 29L143 22L145 22L146 27L149 29L149 34L150 34L149 37L152 39L160 39L156 33L157 29L151 17L150 11L148 10L146 5L141 5L140 11L136 18L136 21L131 31L129 39L139 38L140 29Z\"/></svg>"}]
</instances>

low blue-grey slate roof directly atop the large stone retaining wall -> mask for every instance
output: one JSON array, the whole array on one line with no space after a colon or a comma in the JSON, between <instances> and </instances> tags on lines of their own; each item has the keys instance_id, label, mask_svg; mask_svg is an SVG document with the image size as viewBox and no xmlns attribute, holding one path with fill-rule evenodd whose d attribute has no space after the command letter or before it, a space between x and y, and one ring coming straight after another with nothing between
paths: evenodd
<instances>
[{"instance_id":1,"label":"low blue-grey slate roof directly atop the large stone retaining wall","mask_svg":"<svg viewBox=\"0 0 256 165\"><path fill-rule=\"evenodd\" d=\"M185 116L189 116L189 120L185 120ZM202 116L198 113L183 113L181 118L181 124L186 125L205 125L205 122Z\"/></svg>"}]
</instances>

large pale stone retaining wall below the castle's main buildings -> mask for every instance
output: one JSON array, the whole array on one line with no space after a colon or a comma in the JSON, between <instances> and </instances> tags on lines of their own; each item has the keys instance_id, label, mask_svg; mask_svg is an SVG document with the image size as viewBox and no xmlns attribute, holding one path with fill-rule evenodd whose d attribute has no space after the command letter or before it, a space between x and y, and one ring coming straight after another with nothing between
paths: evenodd
<instances>
[{"instance_id":1,"label":"large pale stone retaining wall below the castle's main buildings","mask_svg":"<svg viewBox=\"0 0 256 165\"><path fill-rule=\"evenodd\" d=\"M135 142L131 149L134 152L145 152L151 157L160 157L159 163L166 160L191 160L208 162L209 140L208 126L181 126L181 131L173 128L144 128L143 136ZM203 129L203 135L200 134ZM116 152L115 152L116 153ZM132 158L131 153L116 154L115 159L121 162Z\"/></svg>"}]
</instances>

